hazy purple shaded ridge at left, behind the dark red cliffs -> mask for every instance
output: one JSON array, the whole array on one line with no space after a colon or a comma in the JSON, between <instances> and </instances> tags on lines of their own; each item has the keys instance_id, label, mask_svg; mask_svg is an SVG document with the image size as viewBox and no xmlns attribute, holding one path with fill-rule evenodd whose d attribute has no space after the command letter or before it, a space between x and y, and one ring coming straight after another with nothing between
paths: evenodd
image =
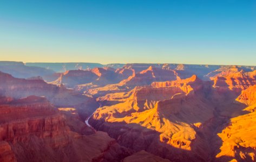
<instances>
[{"instance_id":1,"label":"hazy purple shaded ridge at left, behind the dark red cliffs","mask_svg":"<svg viewBox=\"0 0 256 162\"><path fill-rule=\"evenodd\" d=\"M86 118L98 107L93 98L66 89L63 85L47 84L40 79L14 78L3 72L0 72L0 95L14 98L31 95L44 96L55 106L80 109L83 118Z\"/></svg>"}]
</instances>

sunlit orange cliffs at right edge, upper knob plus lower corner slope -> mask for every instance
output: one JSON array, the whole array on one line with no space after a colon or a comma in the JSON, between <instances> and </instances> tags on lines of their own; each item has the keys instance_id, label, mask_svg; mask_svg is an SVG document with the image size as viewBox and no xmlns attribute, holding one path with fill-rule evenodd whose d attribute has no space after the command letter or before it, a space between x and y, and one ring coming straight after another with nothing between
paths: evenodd
<instances>
[{"instance_id":1,"label":"sunlit orange cliffs at right edge, upper knob plus lower corner slope","mask_svg":"<svg viewBox=\"0 0 256 162\"><path fill-rule=\"evenodd\" d=\"M222 160L236 159L239 161L255 161L256 141L254 139L256 129L255 99L256 86L250 86L241 92L237 102L245 104L244 113L241 116L231 118L231 121L218 136L223 141L220 152L216 157Z\"/></svg>"}]
</instances>

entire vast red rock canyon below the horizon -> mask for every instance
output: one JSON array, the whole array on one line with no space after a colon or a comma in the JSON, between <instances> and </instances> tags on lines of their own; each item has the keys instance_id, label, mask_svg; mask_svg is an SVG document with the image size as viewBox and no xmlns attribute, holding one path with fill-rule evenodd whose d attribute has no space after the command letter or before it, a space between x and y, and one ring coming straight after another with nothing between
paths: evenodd
<instances>
[{"instance_id":1,"label":"entire vast red rock canyon below the horizon","mask_svg":"<svg viewBox=\"0 0 256 162\"><path fill-rule=\"evenodd\" d=\"M255 161L255 109L255 66L0 62L0 161Z\"/></svg>"}]
</instances>

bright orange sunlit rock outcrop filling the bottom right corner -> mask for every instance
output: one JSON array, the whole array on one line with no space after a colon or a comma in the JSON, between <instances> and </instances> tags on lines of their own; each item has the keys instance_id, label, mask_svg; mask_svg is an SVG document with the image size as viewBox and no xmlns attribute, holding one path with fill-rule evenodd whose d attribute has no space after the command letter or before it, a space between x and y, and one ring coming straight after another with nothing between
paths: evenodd
<instances>
[{"instance_id":1,"label":"bright orange sunlit rock outcrop filling the bottom right corner","mask_svg":"<svg viewBox=\"0 0 256 162\"><path fill-rule=\"evenodd\" d=\"M255 124L255 112L232 118L229 126L218 134L222 145L216 158L221 161L255 161Z\"/></svg>"}]
</instances>

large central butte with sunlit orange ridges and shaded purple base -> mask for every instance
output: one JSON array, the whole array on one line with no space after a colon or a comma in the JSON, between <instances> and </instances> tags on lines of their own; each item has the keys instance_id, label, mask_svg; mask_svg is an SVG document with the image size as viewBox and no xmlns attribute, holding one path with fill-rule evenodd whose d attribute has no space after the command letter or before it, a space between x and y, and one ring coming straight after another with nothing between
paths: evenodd
<instances>
[{"instance_id":1,"label":"large central butte with sunlit orange ridges and shaded purple base","mask_svg":"<svg viewBox=\"0 0 256 162\"><path fill-rule=\"evenodd\" d=\"M207 154L195 150L204 152L208 147L194 146L193 141L204 143L202 137L196 137L197 127L213 118L214 106L203 98L202 84L192 76L162 87L156 86L160 85L157 83L135 87L128 97L119 100L122 93L120 97L112 97L120 103L97 109L91 123L135 151L146 150L170 160L204 161ZM164 148L168 153L160 151Z\"/></svg>"}]
</instances>

